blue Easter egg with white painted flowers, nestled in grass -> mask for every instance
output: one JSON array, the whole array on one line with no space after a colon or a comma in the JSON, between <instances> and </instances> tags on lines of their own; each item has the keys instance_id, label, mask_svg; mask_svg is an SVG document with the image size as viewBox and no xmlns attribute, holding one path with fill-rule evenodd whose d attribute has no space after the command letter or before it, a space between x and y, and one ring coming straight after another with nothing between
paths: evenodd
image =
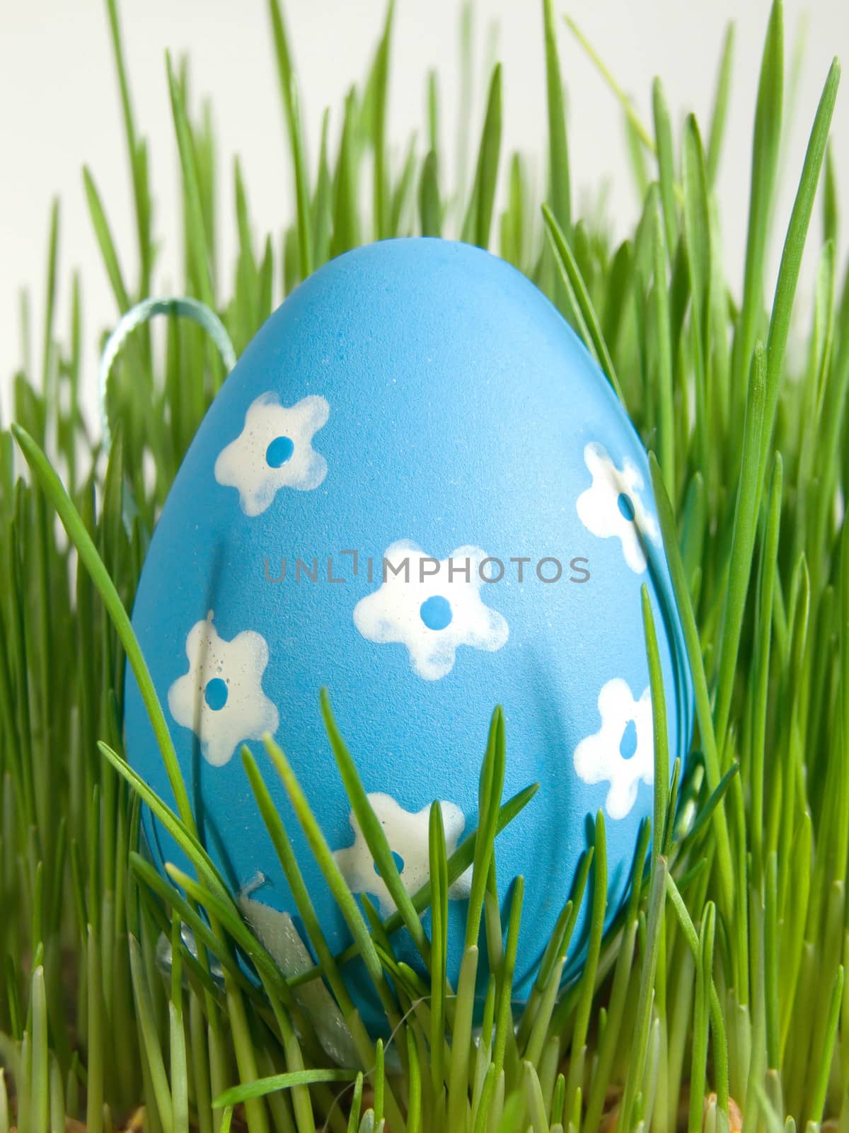
<instances>
[{"instance_id":1,"label":"blue Easter egg with white painted flowers, nestled in grass","mask_svg":"<svg viewBox=\"0 0 849 1133\"><path fill-rule=\"evenodd\" d=\"M540 784L496 843L501 900L525 878L515 979L525 996L586 849L588 816L606 816L611 918L651 815L643 583L670 755L683 757L692 685L645 452L555 307L505 262L437 239L358 248L302 283L198 429L132 616L201 837L234 894L249 894L243 906L260 910L255 923L276 910L306 942L243 743L341 952L350 935L263 734L285 751L351 891L387 915L394 905L342 786L319 689L410 893L428 879L431 802L441 802L449 853L478 825L500 704L505 798ZM129 672L126 704L129 758L173 803ZM145 828L160 867L188 868L149 815ZM449 894L454 986L468 894L463 876ZM413 962L412 942L396 940ZM346 973L374 1021L362 965Z\"/></svg>"}]
</instances>

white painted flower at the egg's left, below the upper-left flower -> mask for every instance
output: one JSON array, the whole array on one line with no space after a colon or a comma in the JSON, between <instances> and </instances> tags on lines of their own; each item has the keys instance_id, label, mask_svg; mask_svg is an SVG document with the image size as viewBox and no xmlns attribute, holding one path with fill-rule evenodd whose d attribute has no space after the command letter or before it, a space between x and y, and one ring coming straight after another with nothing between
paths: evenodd
<instances>
[{"instance_id":1,"label":"white painted flower at the egg's left, below the upper-left flower","mask_svg":"<svg viewBox=\"0 0 849 1133\"><path fill-rule=\"evenodd\" d=\"M268 645L261 633L243 630L225 641L211 610L189 630L186 656L189 671L168 690L168 706L198 736L207 763L222 767L243 740L277 730L277 709L263 692Z\"/></svg>"}]
</instances>

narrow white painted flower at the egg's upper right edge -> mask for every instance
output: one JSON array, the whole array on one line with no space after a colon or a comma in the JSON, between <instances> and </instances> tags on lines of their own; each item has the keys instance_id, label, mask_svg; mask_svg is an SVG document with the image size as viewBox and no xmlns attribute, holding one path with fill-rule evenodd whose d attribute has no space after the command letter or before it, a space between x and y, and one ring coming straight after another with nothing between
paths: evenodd
<instances>
[{"instance_id":1,"label":"narrow white painted flower at the egg's upper right edge","mask_svg":"<svg viewBox=\"0 0 849 1133\"><path fill-rule=\"evenodd\" d=\"M618 538L625 562L635 573L642 574L645 552L641 536L657 543L660 531L654 516L643 503L641 492L645 485L640 470L627 459L617 468L598 441L585 446L584 463L592 476L592 486L581 493L575 504L581 522L601 539Z\"/></svg>"}]
</instances>

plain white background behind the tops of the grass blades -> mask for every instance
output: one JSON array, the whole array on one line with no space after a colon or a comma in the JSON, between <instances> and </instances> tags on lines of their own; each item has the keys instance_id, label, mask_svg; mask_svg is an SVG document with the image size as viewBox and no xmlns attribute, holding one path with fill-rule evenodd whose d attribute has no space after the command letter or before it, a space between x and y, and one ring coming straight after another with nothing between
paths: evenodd
<instances>
[{"instance_id":1,"label":"plain white background behind the tops of the grass blades","mask_svg":"<svg viewBox=\"0 0 849 1133\"><path fill-rule=\"evenodd\" d=\"M556 9L564 6L556 3ZM746 232L752 120L769 14L766 0L584 0L572 2L568 10L633 95L646 122L651 123L651 80L660 74L676 128L693 109L704 131L724 27L735 19L734 83L719 199L728 270L736 288ZM455 157L453 127L458 99L458 0L397 0L391 76L389 128L400 151L411 130L418 129L422 136L424 76L428 68L438 68L449 169ZM331 105L338 125L345 90L367 70L383 14L383 0L289 0L286 5L312 161L321 111ZM152 139L156 235L162 242L156 283L160 292L171 291L179 279L180 246L166 48L174 54L189 52L195 96L208 96L213 103L220 147L218 223L226 269L233 248L233 154L240 154L243 162L258 231L278 233L290 214L291 178L267 8L265 0L123 0L121 18L138 128ZM522 147L535 156L541 176L544 73L537 0L478 2L473 136L480 128L494 23L499 26L495 50L505 67L503 153ZM849 5L846 0L809 0L806 5L787 0L784 25L788 68L800 28L806 50L775 214L775 232L781 238L829 63L834 54L849 60ZM624 233L634 220L637 202L619 109L565 25L560 25L559 41L578 202L590 201L609 181L609 215L616 232ZM849 78L844 85L849 86ZM849 90L839 96L833 135L846 231ZM93 406L94 344L97 334L114 322L115 308L85 206L84 163L94 172L128 281L135 279L136 270L129 177L102 0L0 0L0 403L8 412L11 374L20 364L22 288L32 297L34 352L40 364L48 218L50 202L58 194L59 331L67 339L68 279L70 270L79 267L86 397ZM818 212L815 224L818 230ZM842 232L841 246L846 246ZM778 250L773 249L773 271ZM806 263L808 292L812 269L813 263Z\"/></svg>"}]
</instances>

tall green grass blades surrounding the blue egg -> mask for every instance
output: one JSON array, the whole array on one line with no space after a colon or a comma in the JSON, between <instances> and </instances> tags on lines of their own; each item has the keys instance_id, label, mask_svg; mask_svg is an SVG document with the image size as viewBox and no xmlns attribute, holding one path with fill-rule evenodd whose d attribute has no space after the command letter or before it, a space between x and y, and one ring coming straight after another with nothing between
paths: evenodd
<instances>
[{"instance_id":1,"label":"tall green grass blades surrounding the blue egg","mask_svg":"<svg viewBox=\"0 0 849 1133\"><path fill-rule=\"evenodd\" d=\"M108 0L106 15L135 203L135 279L94 172L83 177L117 316L157 298L152 279L163 238L182 238L181 292L197 301L152 303L122 325L103 364L105 428L93 435L80 410L80 386L92 378L82 373L77 276L67 340L57 331L66 318L55 304L53 211L44 341L36 363L24 304L17 424L0 432L0 1133L12 1125L20 1133L62 1130L66 1115L109 1133L139 1105L151 1133L226 1133L243 1121L251 1133L601 1133L614 1119L619 1133L684 1126L713 1133L728 1130L729 1110L743 1113L744 1133L803 1125L815 1133L826 1121L846 1133L849 283L838 259L839 193L827 150L837 63L803 167L788 174L798 177L798 190L770 300L766 250L795 86L784 82L780 3L765 33L752 180L739 184L740 194L749 191L739 291L723 273L714 198L735 107L731 29L711 121L700 126L688 117L676 140L661 82L652 88L652 121L643 122L569 22L621 104L644 199L633 235L615 246L603 220L575 207L558 54L568 31L551 0L539 12L549 147L543 191L526 155L503 152L509 92L498 66L482 121L469 121L469 8L456 139L444 137L437 75L428 78L420 140L396 147L387 137L391 6L367 78L345 100L337 147L325 118L317 162L309 161L292 50L277 0L269 0L269 66L276 63L280 78L281 145L291 155L295 210L281 218L282 240L280 232L260 237L237 163L238 256L223 264L209 111L197 108L186 65L169 59L183 225L181 233L162 233L153 223L149 143L136 126L115 0ZM453 140L461 161L449 184L444 163ZM157 150L168 144L156 139ZM317 960L286 979L197 840L127 615L157 510L233 350L241 352L281 296L329 256L415 232L462 236L498 252L552 298L598 359L653 453L694 675L694 749L686 768L672 765L670 786L655 632L644 602L659 768L641 843L650 868L645 876L635 869L626 906L602 936L607 863L598 816L524 1006L511 996L523 884L516 880L503 922L492 866L497 832L522 821L534 785L503 799L509 735L500 710L481 736L480 828L447 860L435 807L430 883L408 897L331 700L316 704L396 898L398 912L385 923L346 891L284 752L268 742L265 774L281 776L348 921L353 944L343 956L324 939L264 773L243 752ZM817 257L816 287L801 309L806 246ZM152 314L168 316L163 333L146 321ZM177 812L123 759L126 659L151 713ZM139 853L143 800L192 862L194 876L169 869L179 888ZM452 988L447 892L470 866L466 947ZM581 977L564 986L583 902L589 955ZM430 938L419 919L427 908ZM393 951L402 925L424 978ZM191 949L183 926L194 934ZM479 952L483 938L487 949ZM169 948L170 965L162 963ZM386 1045L369 1037L342 979L341 963L354 953L384 1005ZM249 957L256 979L238 955ZM475 1036L473 989L483 963L484 1025ZM343 1065L321 1046L326 1006L315 1005L327 999L317 1000L319 993L348 1023Z\"/></svg>"}]
</instances>

